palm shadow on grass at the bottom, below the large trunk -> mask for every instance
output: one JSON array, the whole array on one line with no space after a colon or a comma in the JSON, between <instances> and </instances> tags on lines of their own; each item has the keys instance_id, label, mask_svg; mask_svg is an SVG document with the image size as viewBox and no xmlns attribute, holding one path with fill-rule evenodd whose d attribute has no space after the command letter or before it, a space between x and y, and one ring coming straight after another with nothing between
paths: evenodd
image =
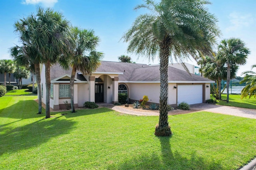
<instances>
[{"instance_id":1,"label":"palm shadow on grass at the bottom, below the large trunk","mask_svg":"<svg viewBox=\"0 0 256 170\"><path fill-rule=\"evenodd\" d=\"M161 145L161 155L143 154L134 159L126 160L120 164L111 164L108 169L126 169L126 170L221 170L220 164L214 161L207 161L198 156L196 151L192 152L190 158L182 155L180 152L172 152L171 137L158 137ZM186 146L184 146L186 147Z\"/></svg>"}]
</instances>

